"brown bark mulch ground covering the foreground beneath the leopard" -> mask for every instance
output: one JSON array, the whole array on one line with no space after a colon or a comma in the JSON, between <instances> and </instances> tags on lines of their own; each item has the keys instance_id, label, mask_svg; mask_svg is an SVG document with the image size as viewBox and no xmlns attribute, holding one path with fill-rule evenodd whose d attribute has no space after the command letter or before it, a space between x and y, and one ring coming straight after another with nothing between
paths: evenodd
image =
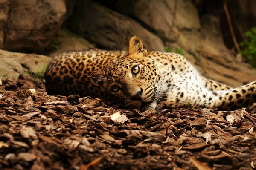
<instances>
[{"instance_id":1,"label":"brown bark mulch ground covering the foreground beneath the leopard","mask_svg":"<svg viewBox=\"0 0 256 170\"><path fill-rule=\"evenodd\" d=\"M0 81L1 170L252 170L256 110L125 110ZM36 93L33 90L35 89Z\"/></svg>"}]
</instances>

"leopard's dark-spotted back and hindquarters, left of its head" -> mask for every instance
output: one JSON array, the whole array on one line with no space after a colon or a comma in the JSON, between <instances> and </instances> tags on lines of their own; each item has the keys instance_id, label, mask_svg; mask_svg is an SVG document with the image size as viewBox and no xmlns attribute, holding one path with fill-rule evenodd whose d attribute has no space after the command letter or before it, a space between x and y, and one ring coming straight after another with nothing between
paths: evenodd
<instances>
[{"instance_id":1,"label":"leopard's dark-spotted back and hindquarters, left of its head","mask_svg":"<svg viewBox=\"0 0 256 170\"><path fill-rule=\"evenodd\" d=\"M64 52L54 58L45 72L46 90L49 95L104 97L99 87L90 81L92 72L105 72L125 52L87 50Z\"/></svg>"}]
</instances>

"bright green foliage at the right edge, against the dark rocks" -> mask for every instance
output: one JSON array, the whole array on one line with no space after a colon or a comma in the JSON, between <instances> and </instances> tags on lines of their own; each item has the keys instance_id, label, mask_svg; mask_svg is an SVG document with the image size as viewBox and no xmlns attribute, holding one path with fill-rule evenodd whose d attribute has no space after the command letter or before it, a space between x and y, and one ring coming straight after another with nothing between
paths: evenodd
<instances>
[{"instance_id":1,"label":"bright green foliage at the right edge, against the dark rocks","mask_svg":"<svg viewBox=\"0 0 256 170\"><path fill-rule=\"evenodd\" d=\"M245 36L246 40L240 43L242 50L239 53L247 63L256 68L256 27L245 32Z\"/></svg>"}]
</instances>

